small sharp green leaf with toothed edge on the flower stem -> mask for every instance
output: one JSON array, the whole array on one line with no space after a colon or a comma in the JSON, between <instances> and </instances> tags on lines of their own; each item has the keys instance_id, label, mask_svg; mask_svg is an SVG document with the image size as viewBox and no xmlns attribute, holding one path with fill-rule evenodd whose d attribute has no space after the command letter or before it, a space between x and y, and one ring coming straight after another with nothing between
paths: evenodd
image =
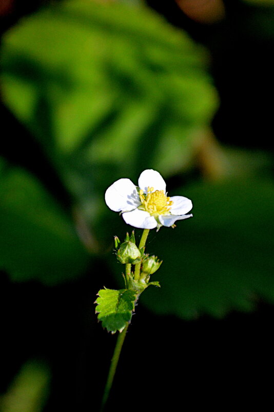
<instances>
[{"instance_id":1,"label":"small sharp green leaf with toothed edge on the flower stem","mask_svg":"<svg viewBox=\"0 0 274 412\"><path fill-rule=\"evenodd\" d=\"M122 332L131 320L136 292L129 289L101 289L97 295L95 313L98 313L98 320L102 321L103 328L111 333L118 330Z\"/></svg>"}]
</instances>

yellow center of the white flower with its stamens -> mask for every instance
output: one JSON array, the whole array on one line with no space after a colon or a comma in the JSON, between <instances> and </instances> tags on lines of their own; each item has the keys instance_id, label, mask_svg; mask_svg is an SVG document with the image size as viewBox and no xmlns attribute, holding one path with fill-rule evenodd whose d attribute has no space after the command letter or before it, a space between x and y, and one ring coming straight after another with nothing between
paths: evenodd
<instances>
[{"instance_id":1,"label":"yellow center of the white flower with its stamens","mask_svg":"<svg viewBox=\"0 0 274 412\"><path fill-rule=\"evenodd\" d=\"M153 187L147 188L147 193L141 189L139 192L141 208L151 214L151 216L159 216L159 214L169 214L173 202L165 195L164 190L155 190Z\"/></svg>"}]
</instances>

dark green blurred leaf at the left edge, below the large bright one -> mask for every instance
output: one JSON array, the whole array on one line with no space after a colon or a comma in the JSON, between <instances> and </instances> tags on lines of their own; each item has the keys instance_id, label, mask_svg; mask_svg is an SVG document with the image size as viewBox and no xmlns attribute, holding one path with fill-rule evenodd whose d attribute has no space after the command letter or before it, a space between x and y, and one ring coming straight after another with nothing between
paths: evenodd
<instances>
[{"instance_id":1,"label":"dark green blurred leaf at the left edge, below the large bright one","mask_svg":"<svg viewBox=\"0 0 274 412\"><path fill-rule=\"evenodd\" d=\"M34 176L0 158L0 267L13 280L54 284L80 275L88 255L66 213Z\"/></svg>"}]
</instances>

